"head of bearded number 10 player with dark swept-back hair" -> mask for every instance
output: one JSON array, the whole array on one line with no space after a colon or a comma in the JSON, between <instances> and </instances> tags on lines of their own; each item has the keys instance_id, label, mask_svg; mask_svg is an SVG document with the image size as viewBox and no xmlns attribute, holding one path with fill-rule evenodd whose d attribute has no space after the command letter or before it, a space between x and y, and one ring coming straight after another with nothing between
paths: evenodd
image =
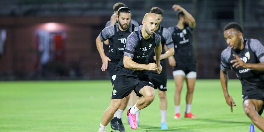
<instances>
[{"instance_id":1,"label":"head of bearded number 10 player with dark swept-back hair","mask_svg":"<svg viewBox=\"0 0 264 132\"><path fill-rule=\"evenodd\" d=\"M131 21L131 10L128 7L121 7L117 12L117 16L121 28L127 30Z\"/></svg>"}]
</instances>

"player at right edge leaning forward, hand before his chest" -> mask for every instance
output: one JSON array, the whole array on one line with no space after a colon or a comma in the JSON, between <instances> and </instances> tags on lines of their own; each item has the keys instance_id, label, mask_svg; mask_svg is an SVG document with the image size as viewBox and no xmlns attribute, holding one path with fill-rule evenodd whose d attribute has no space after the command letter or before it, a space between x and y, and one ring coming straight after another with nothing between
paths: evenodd
<instances>
[{"instance_id":1,"label":"player at right edge leaning forward, hand before his chest","mask_svg":"<svg viewBox=\"0 0 264 132\"><path fill-rule=\"evenodd\" d=\"M236 106L228 93L228 70L236 72L242 84L244 111L253 123L264 131L264 46L256 39L244 39L238 23L224 27L224 38L228 47L221 53L220 80L226 103Z\"/></svg>"}]
</instances>

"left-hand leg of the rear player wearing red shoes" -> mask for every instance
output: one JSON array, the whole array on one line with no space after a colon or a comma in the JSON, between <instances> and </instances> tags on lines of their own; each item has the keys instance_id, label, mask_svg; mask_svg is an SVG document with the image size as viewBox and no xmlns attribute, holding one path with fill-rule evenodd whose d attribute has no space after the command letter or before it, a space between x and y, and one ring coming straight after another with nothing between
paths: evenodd
<instances>
[{"instance_id":1,"label":"left-hand leg of the rear player wearing red shoes","mask_svg":"<svg viewBox=\"0 0 264 132\"><path fill-rule=\"evenodd\" d=\"M182 70L176 70L172 72L174 82L175 82L175 93L174 93L174 107L175 107L175 116L174 119L180 118L180 99L182 92L182 85L185 78L185 73Z\"/></svg>"}]
</instances>

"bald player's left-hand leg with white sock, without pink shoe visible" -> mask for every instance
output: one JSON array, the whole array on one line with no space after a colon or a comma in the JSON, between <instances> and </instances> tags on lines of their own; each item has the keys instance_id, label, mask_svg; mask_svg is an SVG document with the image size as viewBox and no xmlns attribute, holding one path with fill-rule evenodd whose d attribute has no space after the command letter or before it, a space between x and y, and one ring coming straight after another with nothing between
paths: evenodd
<instances>
[{"instance_id":1,"label":"bald player's left-hand leg with white sock, without pink shoe visible","mask_svg":"<svg viewBox=\"0 0 264 132\"><path fill-rule=\"evenodd\" d=\"M99 132L105 132L105 128L110 120L113 118L114 113L119 109L122 99L112 99L110 106L104 111L101 119Z\"/></svg>"}]
</instances>

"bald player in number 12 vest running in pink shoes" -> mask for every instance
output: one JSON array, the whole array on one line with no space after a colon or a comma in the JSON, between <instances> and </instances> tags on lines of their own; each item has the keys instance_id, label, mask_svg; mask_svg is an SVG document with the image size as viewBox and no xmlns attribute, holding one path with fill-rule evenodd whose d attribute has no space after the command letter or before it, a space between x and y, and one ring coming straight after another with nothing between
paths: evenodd
<instances>
[{"instance_id":1,"label":"bald player in number 12 vest running in pink shoes","mask_svg":"<svg viewBox=\"0 0 264 132\"><path fill-rule=\"evenodd\" d=\"M153 13L146 13L141 30L131 33L126 41L123 58L116 66L117 75L113 88L110 106L104 111L99 132L105 132L106 125L119 109L121 100L134 90L138 96L142 96L137 103L127 111L130 126L138 127L136 112L147 107L155 97L155 90L148 71L162 71L160 65L161 38L154 33L158 19ZM148 63L148 56L155 52L156 63Z\"/></svg>"}]
</instances>

